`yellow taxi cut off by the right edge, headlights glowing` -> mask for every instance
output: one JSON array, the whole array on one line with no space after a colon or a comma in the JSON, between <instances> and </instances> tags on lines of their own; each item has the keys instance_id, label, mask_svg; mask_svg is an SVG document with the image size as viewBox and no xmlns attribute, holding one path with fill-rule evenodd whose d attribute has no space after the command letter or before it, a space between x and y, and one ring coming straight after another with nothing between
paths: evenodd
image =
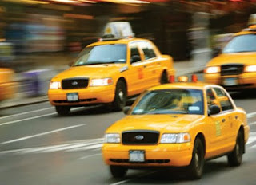
<instances>
[{"instance_id":1,"label":"yellow taxi cut off by the right edge, headlights glowing","mask_svg":"<svg viewBox=\"0 0 256 185\"><path fill-rule=\"evenodd\" d=\"M235 33L204 71L205 81L228 90L256 88L256 26Z\"/></svg>"}]
</instances>

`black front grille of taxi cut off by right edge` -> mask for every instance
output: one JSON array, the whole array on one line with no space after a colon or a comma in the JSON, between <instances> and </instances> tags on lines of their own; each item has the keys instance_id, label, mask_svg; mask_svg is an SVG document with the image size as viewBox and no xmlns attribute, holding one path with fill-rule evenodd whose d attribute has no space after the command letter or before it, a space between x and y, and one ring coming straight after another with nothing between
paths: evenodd
<instances>
[{"instance_id":1,"label":"black front grille of taxi cut off by right edge","mask_svg":"<svg viewBox=\"0 0 256 185\"><path fill-rule=\"evenodd\" d=\"M242 64L228 64L221 66L221 75L238 75L243 72L244 65Z\"/></svg>"}]
</instances>

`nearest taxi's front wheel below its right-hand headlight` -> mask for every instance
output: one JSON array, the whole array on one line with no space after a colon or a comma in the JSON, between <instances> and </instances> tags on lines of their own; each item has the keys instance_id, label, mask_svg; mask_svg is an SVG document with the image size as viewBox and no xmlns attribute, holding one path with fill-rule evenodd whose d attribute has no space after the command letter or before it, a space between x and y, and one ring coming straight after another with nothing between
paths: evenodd
<instances>
[{"instance_id":1,"label":"nearest taxi's front wheel below its right-hand headlight","mask_svg":"<svg viewBox=\"0 0 256 185\"><path fill-rule=\"evenodd\" d=\"M204 167L204 148L202 140L198 137L194 141L192 159L188 167L187 175L190 179L200 179Z\"/></svg>"}]
</instances>

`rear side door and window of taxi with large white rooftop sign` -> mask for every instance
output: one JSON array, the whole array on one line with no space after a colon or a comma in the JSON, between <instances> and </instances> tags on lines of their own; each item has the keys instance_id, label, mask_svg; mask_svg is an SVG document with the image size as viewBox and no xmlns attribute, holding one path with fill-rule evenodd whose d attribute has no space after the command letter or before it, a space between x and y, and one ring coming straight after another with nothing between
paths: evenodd
<instances>
[{"instance_id":1,"label":"rear side door and window of taxi with large white rooftop sign","mask_svg":"<svg viewBox=\"0 0 256 185\"><path fill-rule=\"evenodd\" d=\"M154 51L154 46L148 41L140 41L138 46L144 55L146 87L159 85L161 65Z\"/></svg>"}]
</instances>

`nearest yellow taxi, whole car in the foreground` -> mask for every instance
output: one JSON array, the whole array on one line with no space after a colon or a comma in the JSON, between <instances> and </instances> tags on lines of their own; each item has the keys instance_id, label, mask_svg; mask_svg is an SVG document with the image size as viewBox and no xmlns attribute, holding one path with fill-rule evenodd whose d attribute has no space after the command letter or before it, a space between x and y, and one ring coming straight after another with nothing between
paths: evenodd
<instances>
[{"instance_id":1,"label":"nearest yellow taxi, whole car in the foreground","mask_svg":"<svg viewBox=\"0 0 256 185\"><path fill-rule=\"evenodd\" d=\"M129 168L184 167L202 176L204 161L227 155L239 166L250 128L246 112L219 85L178 82L147 89L106 130L103 159L115 178Z\"/></svg>"}]
</instances>

